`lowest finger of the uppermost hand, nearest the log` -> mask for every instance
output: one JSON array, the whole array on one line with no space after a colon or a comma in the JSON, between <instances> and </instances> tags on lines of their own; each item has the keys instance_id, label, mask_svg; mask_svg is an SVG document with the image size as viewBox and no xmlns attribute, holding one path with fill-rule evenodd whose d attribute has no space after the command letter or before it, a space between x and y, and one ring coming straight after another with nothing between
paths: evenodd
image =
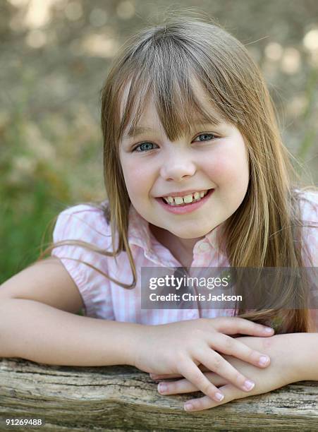
<instances>
[{"instance_id":1,"label":"lowest finger of the uppermost hand, nearest the log","mask_svg":"<svg viewBox=\"0 0 318 432\"><path fill-rule=\"evenodd\" d=\"M211 397L213 400L220 401L224 398L219 389L203 375L200 369L188 358L180 362L179 371L181 375L190 381L197 390L200 390L204 395Z\"/></svg>"}]
</instances>

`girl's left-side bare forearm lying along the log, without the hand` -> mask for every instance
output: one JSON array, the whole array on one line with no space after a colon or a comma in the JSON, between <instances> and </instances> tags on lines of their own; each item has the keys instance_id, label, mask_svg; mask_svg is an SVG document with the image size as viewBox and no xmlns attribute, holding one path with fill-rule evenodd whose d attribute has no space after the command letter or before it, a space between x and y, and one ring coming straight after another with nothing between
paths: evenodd
<instances>
[{"instance_id":1,"label":"girl's left-side bare forearm lying along the log, without the hand","mask_svg":"<svg viewBox=\"0 0 318 432\"><path fill-rule=\"evenodd\" d=\"M26 299L1 299L0 357L61 366L134 366L143 326L88 318Z\"/></svg>"}]
</instances>

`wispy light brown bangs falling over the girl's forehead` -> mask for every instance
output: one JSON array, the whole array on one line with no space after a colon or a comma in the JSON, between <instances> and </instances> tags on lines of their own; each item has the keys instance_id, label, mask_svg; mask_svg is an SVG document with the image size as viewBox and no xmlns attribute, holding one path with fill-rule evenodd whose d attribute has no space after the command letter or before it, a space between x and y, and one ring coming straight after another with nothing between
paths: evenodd
<instances>
[{"instance_id":1,"label":"wispy light brown bangs falling over the girl's forehead","mask_svg":"<svg viewBox=\"0 0 318 432\"><path fill-rule=\"evenodd\" d=\"M118 97L118 102L121 100L123 104L123 114L118 122L119 141L123 136L135 135L140 117L149 103L154 104L164 132L171 141L190 135L197 124L217 126L226 120L211 93L189 65L180 68L180 64L170 62L167 73L161 56L154 56L150 61L152 69L136 71L135 76L126 80L121 97Z\"/></svg>"}]
</instances>

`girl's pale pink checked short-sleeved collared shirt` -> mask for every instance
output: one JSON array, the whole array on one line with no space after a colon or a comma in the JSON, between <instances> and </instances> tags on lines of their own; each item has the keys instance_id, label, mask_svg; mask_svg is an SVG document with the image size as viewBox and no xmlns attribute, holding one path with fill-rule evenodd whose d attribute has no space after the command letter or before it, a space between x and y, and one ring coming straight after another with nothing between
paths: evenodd
<instances>
[{"instance_id":1,"label":"girl's pale pink checked short-sleeved collared shirt","mask_svg":"<svg viewBox=\"0 0 318 432\"><path fill-rule=\"evenodd\" d=\"M302 220L318 222L318 193L306 192L310 203L302 200ZM106 201L104 201L106 203ZM219 248L219 235L222 224L197 241L193 249L191 267L228 267L226 256ZM304 238L318 267L318 231L304 229ZM112 251L111 229L102 210L89 205L75 205L63 210L54 227L53 240L76 239L87 241L106 251ZM130 269L128 254L121 252L114 258L102 256L80 246L61 246L54 248L52 256L61 258L77 285L85 306L85 316L106 320L124 321L141 324L164 324L195 318L216 318L233 316L233 309L142 309L140 304L140 277L142 267L182 267L168 248L157 241L149 229L149 223L130 205L128 241L137 271L137 284L134 289L125 289L107 279L88 265L69 258L77 258L94 265L114 280L131 284L133 274ZM116 235L115 245L118 244ZM62 258L63 257L63 258ZM306 259L306 257L305 257ZM305 261L307 262L307 261ZM308 264L309 266L309 264ZM317 311L318 312L318 311ZM312 310L318 331L318 313Z\"/></svg>"}]
</instances>

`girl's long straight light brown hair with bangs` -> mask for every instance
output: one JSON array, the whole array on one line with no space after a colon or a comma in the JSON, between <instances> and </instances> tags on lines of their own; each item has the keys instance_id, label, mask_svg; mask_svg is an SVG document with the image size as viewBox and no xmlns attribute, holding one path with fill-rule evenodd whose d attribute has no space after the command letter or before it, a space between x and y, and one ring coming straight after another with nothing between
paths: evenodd
<instances>
[{"instance_id":1,"label":"girl's long straight light brown hair with bangs","mask_svg":"<svg viewBox=\"0 0 318 432\"><path fill-rule=\"evenodd\" d=\"M282 143L274 104L259 67L243 44L212 20L169 17L159 25L141 30L123 44L101 91L104 184L109 202L106 207L101 203L90 205L104 212L111 226L113 251L109 253L96 246L93 250L115 259L118 253L126 251L133 272L132 284L114 281L103 273L126 289L135 287L137 273L128 244L130 198L119 160L119 143L126 128L137 125L149 94L154 97L161 124L170 140L183 135L185 129L189 132L193 112L214 121L212 113L206 112L197 100L192 77L209 96L214 112L239 129L248 150L247 193L224 228L224 250L230 265L304 266L302 248L305 245L301 236L304 225L299 203L305 189L300 188L300 177L291 163L293 156ZM64 244L92 248L82 241L62 241L51 244L38 260ZM304 290L299 287L296 293L299 299ZM285 295L288 299L295 292ZM308 330L307 308L250 313L238 310L237 313L259 323L276 323L276 332Z\"/></svg>"}]
</instances>

